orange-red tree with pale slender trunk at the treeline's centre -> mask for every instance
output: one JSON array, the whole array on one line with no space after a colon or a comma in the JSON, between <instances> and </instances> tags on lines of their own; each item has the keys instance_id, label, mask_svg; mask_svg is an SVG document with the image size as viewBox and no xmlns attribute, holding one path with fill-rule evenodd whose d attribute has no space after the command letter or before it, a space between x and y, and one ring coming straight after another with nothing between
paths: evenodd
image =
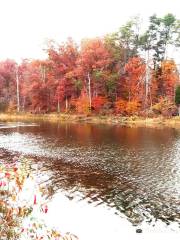
<instances>
[{"instance_id":1,"label":"orange-red tree with pale slender trunk at the treeline's centre","mask_svg":"<svg viewBox=\"0 0 180 240\"><path fill-rule=\"evenodd\" d=\"M110 62L111 55L102 39L89 39L81 43L78 64L82 69L83 84L89 97L90 109L92 97L105 94L107 68Z\"/></svg>"}]
</instances>

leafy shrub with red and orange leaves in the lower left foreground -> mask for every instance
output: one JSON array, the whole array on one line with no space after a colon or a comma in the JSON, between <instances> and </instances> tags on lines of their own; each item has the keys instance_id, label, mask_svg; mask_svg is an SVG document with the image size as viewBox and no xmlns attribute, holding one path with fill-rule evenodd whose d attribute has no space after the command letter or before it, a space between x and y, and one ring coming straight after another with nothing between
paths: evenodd
<instances>
[{"instance_id":1,"label":"leafy shrub with red and orange leaves in the lower left foreground","mask_svg":"<svg viewBox=\"0 0 180 240\"><path fill-rule=\"evenodd\" d=\"M1 163L0 239L78 239L70 233L62 235L36 217L48 212L48 203L42 196L44 189L38 187L35 178L26 169L24 164L12 166Z\"/></svg>"}]
</instances>

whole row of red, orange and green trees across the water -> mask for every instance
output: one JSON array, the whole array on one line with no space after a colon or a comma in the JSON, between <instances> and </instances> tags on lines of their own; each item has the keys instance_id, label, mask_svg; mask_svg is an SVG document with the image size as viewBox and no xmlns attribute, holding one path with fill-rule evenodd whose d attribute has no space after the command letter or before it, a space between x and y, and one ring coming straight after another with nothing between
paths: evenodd
<instances>
[{"instance_id":1,"label":"whole row of red, orange and green trees across the water","mask_svg":"<svg viewBox=\"0 0 180 240\"><path fill-rule=\"evenodd\" d=\"M151 16L143 33L135 17L80 46L49 41L45 60L0 62L0 110L176 114L179 72L171 52L179 47L180 20L172 14Z\"/></svg>"}]
</instances>

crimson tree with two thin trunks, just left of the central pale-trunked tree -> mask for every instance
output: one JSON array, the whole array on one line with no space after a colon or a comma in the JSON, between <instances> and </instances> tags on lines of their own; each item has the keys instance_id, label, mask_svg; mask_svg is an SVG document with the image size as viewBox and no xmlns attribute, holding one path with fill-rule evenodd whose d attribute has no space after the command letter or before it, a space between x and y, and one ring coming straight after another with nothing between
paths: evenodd
<instances>
[{"instance_id":1,"label":"crimson tree with two thin trunks, just left of the central pale-trunked tree","mask_svg":"<svg viewBox=\"0 0 180 240\"><path fill-rule=\"evenodd\" d=\"M51 46L47 51L51 75L53 75L56 84L55 101L58 111L60 103L64 101L67 110L69 100L76 95L81 85L76 74L76 63L79 55L77 45L72 39L69 39L65 44L57 47Z\"/></svg>"}]
</instances>

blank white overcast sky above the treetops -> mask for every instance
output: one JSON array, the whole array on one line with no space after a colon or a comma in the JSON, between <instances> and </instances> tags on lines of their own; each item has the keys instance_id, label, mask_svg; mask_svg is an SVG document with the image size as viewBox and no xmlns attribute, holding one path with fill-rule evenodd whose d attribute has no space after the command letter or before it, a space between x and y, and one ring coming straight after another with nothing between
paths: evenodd
<instances>
[{"instance_id":1,"label":"blank white overcast sky above the treetops","mask_svg":"<svg viewBox=\"0 0 180 240\"><path fill-rule=\"evenodd\" d=\"M46 39L102 36L131 16L180 18L180 0L0 0L0 59L43 56Z\"/></svg>"}]
</instances>

